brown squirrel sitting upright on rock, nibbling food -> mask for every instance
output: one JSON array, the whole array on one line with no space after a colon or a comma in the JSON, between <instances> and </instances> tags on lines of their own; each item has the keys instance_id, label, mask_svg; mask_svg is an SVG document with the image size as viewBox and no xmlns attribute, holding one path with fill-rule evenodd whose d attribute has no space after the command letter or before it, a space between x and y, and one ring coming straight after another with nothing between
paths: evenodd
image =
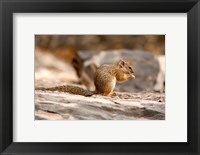
<instances>
[{"instance_id":1,"label":"brown squirrel sitting upright on rock, nibbling food","mask_svg":"<svg viewBox=\"0 0 200 155\"><path fill-rule=\"evenodd\" d=\"M91 96L101 94L103 96L116 96L113 92L116 82L124 82L135 79L134 70L130 62L120 60L116 64L104 64L97 68L94 74L95 91L86 90L78 86L63 85L51 88L36 88L36 90L62 91L76 95Z\"/></svg>"}]
</instances>

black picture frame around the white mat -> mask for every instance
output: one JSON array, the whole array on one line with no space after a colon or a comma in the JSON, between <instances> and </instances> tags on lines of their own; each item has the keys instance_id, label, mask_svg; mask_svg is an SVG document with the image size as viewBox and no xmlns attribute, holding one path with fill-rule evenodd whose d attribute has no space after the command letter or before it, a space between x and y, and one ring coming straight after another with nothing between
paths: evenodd
<instances>
[{"instance_id":1,"label":"black picture frame around the white mat","mask_svg":"<svg viewBox=\"0 0 200 155\"><path fill-rule=\"evenodd\" d=\"M1 154L200 154L200 98L198 96L200 92L200 82L198 80L200 78L199 0L0 0L0 11ZM49 12L187 13L188 142L13 142L13 13ZM178 59L181 59L181 57L177 58L177 61Z\"/></svg>"}]
</instances>

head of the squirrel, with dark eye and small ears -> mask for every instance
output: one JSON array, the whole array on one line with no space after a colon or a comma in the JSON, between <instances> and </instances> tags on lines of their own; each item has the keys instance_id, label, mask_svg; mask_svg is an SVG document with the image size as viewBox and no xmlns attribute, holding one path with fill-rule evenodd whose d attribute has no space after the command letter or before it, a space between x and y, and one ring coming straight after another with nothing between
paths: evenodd
<instances>
[{"instance_id":1,"label":"head of the squirrel, with dark eye and small ears","mask_svg":"<svg viewBox=\"0 0 200 155\"><path fill-rule=\"evenodd\" d=\"M129 75L129 78L135 79L135 75L133 75L135 71L131 62L120 59L117 65L123 70L125 74Z\"/></svg>"}]
</instances>

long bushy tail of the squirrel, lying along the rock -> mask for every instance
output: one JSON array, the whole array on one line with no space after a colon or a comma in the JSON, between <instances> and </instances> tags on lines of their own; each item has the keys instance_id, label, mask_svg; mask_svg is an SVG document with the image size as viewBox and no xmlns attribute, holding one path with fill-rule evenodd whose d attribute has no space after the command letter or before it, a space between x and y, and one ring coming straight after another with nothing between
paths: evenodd
<instances>
[{"instance_id":1,"label":"long bushy tail of the squirrel, lying along the rock","mask_svg":"<svg viewBox=\"0 0 200 155\"><path fill-rule=\"evenodd\" d=\"M59 92L67 92L67 93L71 93L75 95L83 95L83 96L91 96L95 94L95 91L90 91L78 86L71 86L71 85L63 85L63 86L56 86L56 87L50 87L50 88L38 87L35 90L59 91Z\"/></svg>"}]
</instances>

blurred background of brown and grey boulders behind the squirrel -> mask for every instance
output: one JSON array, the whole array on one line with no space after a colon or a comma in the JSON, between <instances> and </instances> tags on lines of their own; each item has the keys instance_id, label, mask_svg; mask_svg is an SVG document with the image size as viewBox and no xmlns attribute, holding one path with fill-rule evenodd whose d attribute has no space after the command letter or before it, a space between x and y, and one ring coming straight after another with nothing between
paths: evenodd
<instances>
[{"instance_id":1,"label":"blurred background of brown and grey boulders behind the squirrel","mask_svg":"<svg viewBox=\"0 0 200 155\"><path fill-rule=\"evenodd\" d=\"M35 35L35 86L94 90L96 67L121 58L132 61L136 79L116 91L165 91L165 35Z\"/></svg>"}]
</instances>

